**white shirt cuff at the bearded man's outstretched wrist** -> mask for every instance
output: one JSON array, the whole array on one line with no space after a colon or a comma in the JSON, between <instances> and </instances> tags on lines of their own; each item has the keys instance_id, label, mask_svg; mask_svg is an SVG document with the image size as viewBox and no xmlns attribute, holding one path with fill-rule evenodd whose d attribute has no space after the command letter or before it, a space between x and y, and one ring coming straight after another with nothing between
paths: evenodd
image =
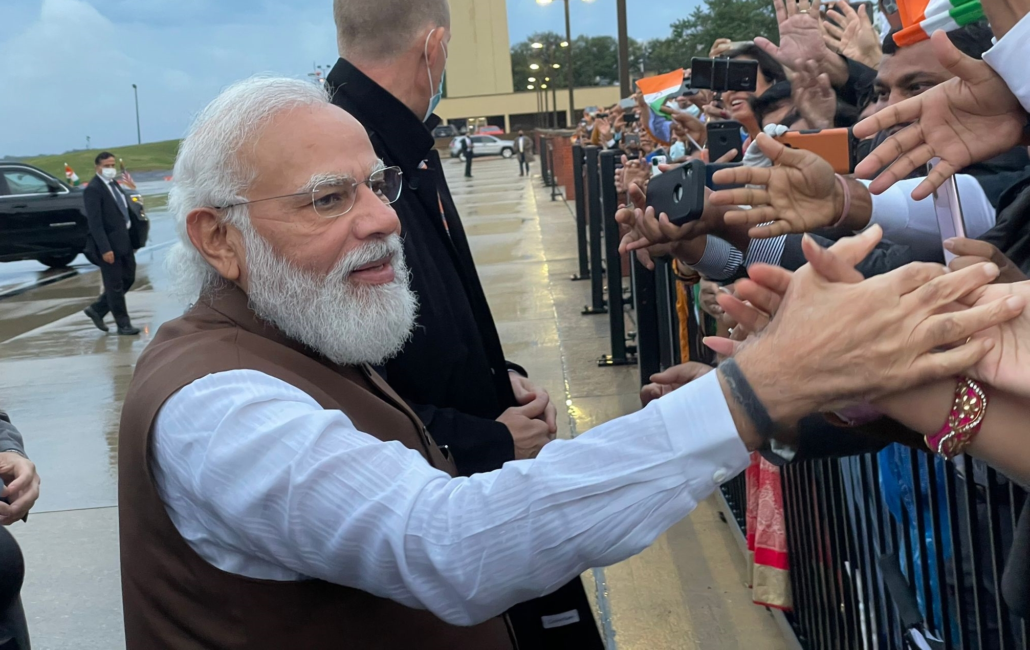
<instances>
[{"instance_id":1,"label":"white shirt cuff at the bearded man's outstretched wrist","mask_svg":"<svg viewBox=\"0 0 1030 650\"><path fill-rule=\"evenodd\" d=\"M670 441L678 455L690 458L692 474L720 485L750 464L719 384L712 371L657 400Z\"/></svg>"}]
</instances>

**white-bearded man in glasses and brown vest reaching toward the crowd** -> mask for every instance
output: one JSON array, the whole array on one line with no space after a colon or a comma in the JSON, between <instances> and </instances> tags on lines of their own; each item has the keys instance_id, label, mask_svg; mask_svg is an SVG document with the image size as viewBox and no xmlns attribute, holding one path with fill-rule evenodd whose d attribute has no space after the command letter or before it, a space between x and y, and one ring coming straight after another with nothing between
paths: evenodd
<instances>
[{"instance_id":1,"label":"white-bearded man in glasses and brown vest reaching toward the crowd","mask_svg":"<svg viewBox=\"0 0 1030 650\"><path fill-rule=\"evenodd\" d=\"M799 417L971 365L983 339L929 351L1023 309L940 313L991 265L857 284L802 269L719 372L455 477L370 368L417 324L402 179L360 125L315 84L252 78L199 114L174 175L194 305L140 356L123 412L130 650L513 648L512 605L640 552ZM854 264L874 239L834 251Z\"/></svg>"}]
</instances>

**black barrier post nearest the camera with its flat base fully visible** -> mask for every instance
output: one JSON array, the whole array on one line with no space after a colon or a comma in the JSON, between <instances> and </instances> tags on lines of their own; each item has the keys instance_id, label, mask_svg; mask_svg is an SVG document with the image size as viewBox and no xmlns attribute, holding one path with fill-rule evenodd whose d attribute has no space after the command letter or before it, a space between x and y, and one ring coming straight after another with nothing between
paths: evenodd
<instances>
[{"instance_id":1,"label":"black barrier post nearest the camera with its flat base fully visible","mask_svg":"<svg viewBox=\"0 0 1030 650\"><path fill-rule=\"evenodd\" d=\"M637 363L636 354L626 348L626 315L622 309L622 259L619 256L619 225L615 223L618 194L615 192L615 158L617 151L600 153L600 218L605 223L605 263L608 265L608 322L612 353L597 360L597 365L628 366Z\"/></svg>"}]
</instances>

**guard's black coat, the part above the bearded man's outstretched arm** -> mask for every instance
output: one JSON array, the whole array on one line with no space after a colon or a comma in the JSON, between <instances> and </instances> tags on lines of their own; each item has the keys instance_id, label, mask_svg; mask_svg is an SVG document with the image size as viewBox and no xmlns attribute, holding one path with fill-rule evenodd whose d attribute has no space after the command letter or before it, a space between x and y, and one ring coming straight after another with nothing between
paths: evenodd
<instances>
[{"instance_id":1,"label":"guard's black coat, the part above the bearded man's outstretched arm","mask_svg":"<svg viewBox=\"0 0 1030 650\"><path fill-rule=\"evenodd\" d=\"M516 403L493 316L433 148L438 121L422 124L343 59L328 81L333 103L362 123L376 155L404 172L393 208L419 310L411 341L383 374L437 442L450 447L460 474L495 470L515 450L508 427L494 420ZM423 161L427 167L419 169Z\"/></svg>"}]
</instances>

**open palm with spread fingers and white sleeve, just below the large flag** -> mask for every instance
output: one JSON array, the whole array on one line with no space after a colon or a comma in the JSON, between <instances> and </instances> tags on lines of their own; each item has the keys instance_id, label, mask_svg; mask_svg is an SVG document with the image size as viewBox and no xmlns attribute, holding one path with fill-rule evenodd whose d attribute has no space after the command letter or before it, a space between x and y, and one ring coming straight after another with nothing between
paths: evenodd
<instances>
[{"instance_id":1,"label":"open palm with spread fingers and white sleeve, just below the large flag","mask_svg":"<svg viewBox=\"0 0 1030 650\"><path fill-rule=\"evenodd\" d=\"M930 40L937 60L956 78L855 125L855 137L866 138L895 125L912 123L855 168L857 175L869 178L890 164L869 185L872 194L887 190L930 159L939 158L940 164L912 193L917 201L925 199L963 167L1007 151L1022 138L1027 113L991 66L959 52L943 32L934 32Z\"/></svg>"}]
</instances>

